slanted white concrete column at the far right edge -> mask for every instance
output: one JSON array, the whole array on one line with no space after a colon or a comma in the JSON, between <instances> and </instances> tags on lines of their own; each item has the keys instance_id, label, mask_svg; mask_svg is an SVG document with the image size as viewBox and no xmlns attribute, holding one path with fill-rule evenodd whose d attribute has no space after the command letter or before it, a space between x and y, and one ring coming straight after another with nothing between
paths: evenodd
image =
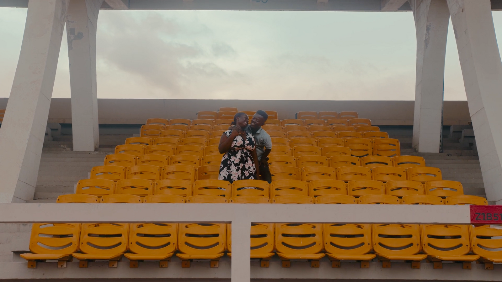
<instances>
[{"instance_id":1,"label":"slanted white concrete column at the far right edge","mask_svg":"<svg viewBox=\"0 0 502 282\"><path fill-rule=\"evenodd\" d=\"M502 204L502 62L490 0L448 0L488 201Z\"/></svg>"}]
</instances>

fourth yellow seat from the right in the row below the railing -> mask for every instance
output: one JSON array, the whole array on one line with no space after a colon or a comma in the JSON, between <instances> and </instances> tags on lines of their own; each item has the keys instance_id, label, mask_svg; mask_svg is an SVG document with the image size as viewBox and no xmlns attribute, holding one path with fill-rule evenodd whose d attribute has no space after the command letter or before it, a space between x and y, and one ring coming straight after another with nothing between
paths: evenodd
<instances>
[{"instance_id":1,"label":"fourth yellow seat from the right in the row below the railing","mask_svg":"<svg viewBox=\"0 0 502 282\"><path fill-rule=\"evenodd\" d=\"M332 267L340 267L341 260L357 260L361 268L369 268L375 258L371 251L370 224L323 224L324 249Z\"/></svg>"}]
</instances>

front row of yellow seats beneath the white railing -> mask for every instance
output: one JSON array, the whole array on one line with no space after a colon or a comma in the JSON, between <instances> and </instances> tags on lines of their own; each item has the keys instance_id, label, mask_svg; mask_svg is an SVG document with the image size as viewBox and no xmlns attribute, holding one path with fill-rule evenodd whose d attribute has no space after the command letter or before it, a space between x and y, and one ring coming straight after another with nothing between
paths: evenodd
<instances>
[{"instance_id":1,"label":"front row of yellow seats beneath the white railing","mask_svg":"<svg viewBox=\"0 0 502 282\"><path fill-rule=\"evenodd\" d=\"M332 267L340 267L342 260L356 260L367 268L375 257L385 268L396 260L412 261L412 268L420 268L426 258L434 262L434 268L442 268L443 261L463 262L466 269L471 261L485 263L486 269L502 262L502 229L488 225L276 223L254 224L251 229L250 258L261 259L265 267L274 252L283 267L290 267L291 259L308 259L312 267L319 267L319 259L326 254ZM189 267L193 259L210 259L211 267L218 267L225 251L231 256L231 225L34 224L30 251L21 254L29 268L46 259L66 267L72 257L79 259L80 267L95 259L109 260L109 266L116 267L122 256L130 260L130 267L146 259L159 260L160 267L167 267L177 251L182 267Z\"/></svg>"}]
</instances>

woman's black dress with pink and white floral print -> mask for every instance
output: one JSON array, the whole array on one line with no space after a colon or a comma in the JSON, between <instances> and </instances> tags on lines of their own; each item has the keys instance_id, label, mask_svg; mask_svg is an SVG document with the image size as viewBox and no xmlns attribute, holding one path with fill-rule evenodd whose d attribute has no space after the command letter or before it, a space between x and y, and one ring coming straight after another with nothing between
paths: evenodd
<instances>
[{"instance_id":1,"label":"woman's black dress with pink and white floral print","mask_svg":"<svg viewBox=\"0 0 502 282\"><path fill-rule=\"evenodd\" d=\"M231 130L223 132L227 137ZM229 181L243 179L257 179L255 163L251 152L255 150L256 143L253 134L246 132L246 138L237 135L233 139L230 150L223 155L219 171L219 180Z\"/></svg>"}]
</instances>

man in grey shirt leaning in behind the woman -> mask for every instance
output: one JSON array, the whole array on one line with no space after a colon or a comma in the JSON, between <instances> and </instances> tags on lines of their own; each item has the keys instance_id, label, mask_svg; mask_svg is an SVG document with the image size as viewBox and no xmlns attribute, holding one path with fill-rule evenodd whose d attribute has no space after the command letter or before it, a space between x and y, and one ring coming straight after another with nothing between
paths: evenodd
<instances>
[{"instance_id":1,"label":"man in grey shirt leaning in behind the woman","mask_svg":"<svg viewBox=\"0 0 502 282\"><path fill-rule=\"evenodd\" d=\"M270 175L269 158L267 158L267 156L269 156L272 151L272 139L269 133L262 128L267 118L269 118L269 115L265 111L258 110L245 130L255 136L256 153L260 165L260 174L262 175L261 180L271 183L272 176Z\"/></svg>"}]
</instances>

